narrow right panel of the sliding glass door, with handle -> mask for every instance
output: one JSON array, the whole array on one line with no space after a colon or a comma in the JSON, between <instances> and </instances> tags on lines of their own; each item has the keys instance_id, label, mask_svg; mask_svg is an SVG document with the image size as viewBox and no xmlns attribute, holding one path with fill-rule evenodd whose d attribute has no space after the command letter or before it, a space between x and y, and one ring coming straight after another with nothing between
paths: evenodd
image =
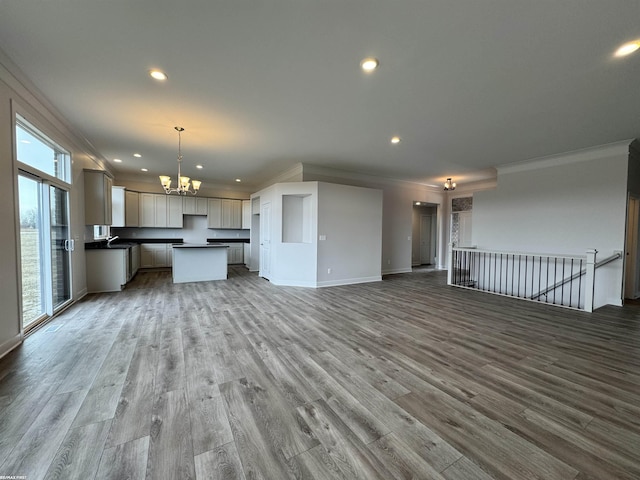
<instances>
[{"instance_id":1,"label":"narrow right panel of the sliding glass door, with handle","mask_svg":"<svg viewBox=\"0 0 640 480\"><path fill-rule=\"evenodd\" d=\"M51 214L51 290L53 310L71 299L71 247L69 192L49 186Z\"/></svg>"}]
</instances>

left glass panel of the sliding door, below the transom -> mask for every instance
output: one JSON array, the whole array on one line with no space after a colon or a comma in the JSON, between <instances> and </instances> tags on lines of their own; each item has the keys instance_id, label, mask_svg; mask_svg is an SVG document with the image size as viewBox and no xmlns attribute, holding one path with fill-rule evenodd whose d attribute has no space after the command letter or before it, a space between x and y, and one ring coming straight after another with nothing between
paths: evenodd
<instances>
[{"instance_id":1,"label":"left glass panel of the sliding door, below the transom","mask_svg":"<svg viewBox=\"0 0 640 480\"><path fill-rule=\"evenodd\" d=\"M39 181L18 176L23 327L46 313L41 191Z\"/></svg>"}]
</instances>

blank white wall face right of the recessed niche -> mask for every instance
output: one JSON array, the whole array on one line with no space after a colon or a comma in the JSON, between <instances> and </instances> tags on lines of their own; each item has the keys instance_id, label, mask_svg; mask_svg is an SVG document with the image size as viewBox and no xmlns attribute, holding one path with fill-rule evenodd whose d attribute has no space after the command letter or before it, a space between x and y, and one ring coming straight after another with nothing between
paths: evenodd
<instances>
[{"instance_id":1,"label":"blank white wall face right of the recessed niche","mask_svg":"<svg viewBox=\"0 0 640 480\"><path fill-rule=\"evenodd\" d=\"M318 286L382 280L382 191L318 183L320 236Z\"/></svg>"}]
</instances>

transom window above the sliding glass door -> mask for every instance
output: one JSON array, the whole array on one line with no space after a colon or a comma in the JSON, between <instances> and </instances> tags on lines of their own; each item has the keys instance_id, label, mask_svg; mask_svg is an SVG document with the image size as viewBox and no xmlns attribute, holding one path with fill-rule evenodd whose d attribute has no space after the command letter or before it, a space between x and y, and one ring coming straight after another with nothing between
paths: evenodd
<instances>
[{"instance_id":1,"label":"transom window above the sliding glass door","mask_svg":"<svg viewBox=\"0 0 640 480\"><path fill-rule=\"evenodd\" d=\"M65 183L71 183L69 152L39 133L20 116L16 119L16 142L18 162Z\"/></svg>"}]
</instances>

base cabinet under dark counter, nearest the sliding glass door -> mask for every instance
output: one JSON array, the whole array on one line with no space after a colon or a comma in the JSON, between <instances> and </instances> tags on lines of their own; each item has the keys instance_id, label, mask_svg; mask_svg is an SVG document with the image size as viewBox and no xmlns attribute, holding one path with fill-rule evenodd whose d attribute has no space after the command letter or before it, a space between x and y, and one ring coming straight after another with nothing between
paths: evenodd
<instances>
[{"instance_id":1,"label":"base cabinet under dark counter, nearest the sliding glass door","mask_svg":"<svg viewBox=\"0 0 640 480\"><path fill-rule=\"evenodd\" d=\"M129 279L129 249L86 250L87 291L119 292Z\"/></svg>"}]
</instances>

